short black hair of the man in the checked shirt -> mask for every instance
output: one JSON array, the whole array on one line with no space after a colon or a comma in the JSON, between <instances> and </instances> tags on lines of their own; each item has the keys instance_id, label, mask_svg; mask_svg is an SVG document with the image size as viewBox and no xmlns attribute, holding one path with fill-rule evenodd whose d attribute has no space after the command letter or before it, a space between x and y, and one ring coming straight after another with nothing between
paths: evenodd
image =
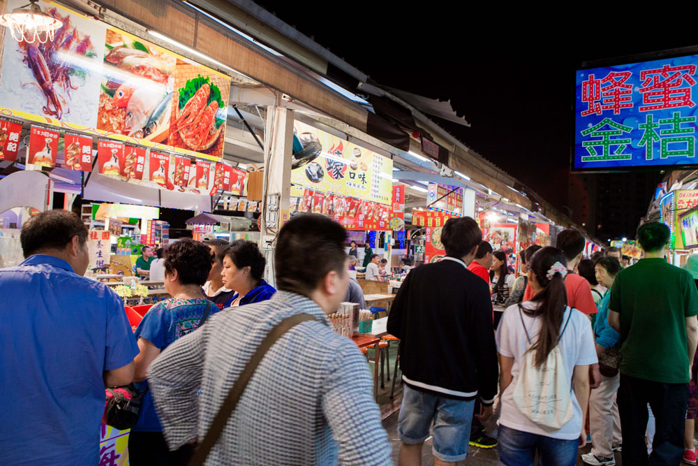
<instances>
[{"instance_id":1,"label":"short black hair of the man in the checked shirt","mask_svg":"<svg viewBox=\"0 0 698 466\"><path fill-rule=\"evenodd\" d=\"M321 214L299 214L279 231L274 252L276 289L310 296L331 272L344 276L346 230ZM309 263L309 258L311 259Z\"/></svg>"}]
</instances>

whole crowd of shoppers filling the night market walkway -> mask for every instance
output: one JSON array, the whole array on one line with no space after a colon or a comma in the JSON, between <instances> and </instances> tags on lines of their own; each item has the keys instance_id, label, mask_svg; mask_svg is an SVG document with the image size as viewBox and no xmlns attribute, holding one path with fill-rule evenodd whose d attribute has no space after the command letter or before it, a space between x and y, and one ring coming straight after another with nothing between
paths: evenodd
<instances>
[{"instance_id":1,"label":"whole crowd of shoppers filling the night market walkway","mask_svg":"<svg viewBox=\"0 0 698 466\"><path fill-rule=\"evenodd\" d=\"M303 214L281 228L276 288L254 242L174 242L155 253L171 297L135 333L116 293L82 277L75 214L38 214L20 240L26 260L0 270L0 463L98 464L104 389L134 383L135 466L392 464L366 359L327 319L344 301L365 306L356 243L348 255L336 222ZM563 231L520 254L519 277L469 217L441 240L442 261L406 263L387 323L404 384L399 464L420 464L430 435L436 465L469 444L496 446L503 465L575 465L590 440L589 465L614 465L618 450L626 465L695 464L698 256L670 265L667 226L640 226L644 259L625 268L612 249L584 259L584 236ZM497 399L493 438L483 423Z\"/></svg>"}]
</instances>

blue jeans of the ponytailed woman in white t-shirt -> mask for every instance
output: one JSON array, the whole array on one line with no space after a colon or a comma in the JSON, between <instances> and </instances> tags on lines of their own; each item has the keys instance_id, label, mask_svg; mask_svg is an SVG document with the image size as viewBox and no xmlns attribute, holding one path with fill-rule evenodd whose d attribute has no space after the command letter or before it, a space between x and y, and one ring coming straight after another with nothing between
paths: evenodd
<instances>
[{"instance_id":1,"label":"blue jeans of the ponytailed woman in white t-shirt","mask_svg":"<svg viewBox=\"0 0 698 466\"><path fill-rule=\"evenodd\" d=\"M500 465L533 466L536 450L540 456L540 466L574 466L577 464L579 439L554 439L500 425L497 442Z\"/></svg>"}]
</instances>

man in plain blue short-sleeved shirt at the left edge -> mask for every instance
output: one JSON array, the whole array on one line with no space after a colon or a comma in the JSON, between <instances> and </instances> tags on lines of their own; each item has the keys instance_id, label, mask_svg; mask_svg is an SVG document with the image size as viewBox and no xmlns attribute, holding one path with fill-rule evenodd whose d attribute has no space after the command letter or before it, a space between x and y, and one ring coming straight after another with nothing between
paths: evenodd
<instances>
[{"instance_id":1,"label":"man in plain blue short-sleeved shirt at the left edge","mask_svg":"<svg viewBox=\"0 0 698 466\"><path fill-rule=\"evenodd\" d=\"M0 270L0 464L97 465L105 386L138 354L121 299L82 277L87 230L65 210L20 234L26 260Z\"/></svg>"}]
</instances>

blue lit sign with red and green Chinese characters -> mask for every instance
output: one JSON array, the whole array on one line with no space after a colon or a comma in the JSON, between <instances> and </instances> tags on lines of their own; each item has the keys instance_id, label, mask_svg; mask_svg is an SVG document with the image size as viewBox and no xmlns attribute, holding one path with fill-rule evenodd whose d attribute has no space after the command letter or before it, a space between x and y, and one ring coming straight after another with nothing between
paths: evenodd
<instances>
[{"instance_id":1,"label":"blue lit sign with red and green Chinese characters","mask_svg":"<svg viewBox=\"0 0 698 466\"><path fill-rule=\"evenodd\" d=\"M575 170L690 166L698 54L576 72Z\"/></svg>"}]
</instances>

